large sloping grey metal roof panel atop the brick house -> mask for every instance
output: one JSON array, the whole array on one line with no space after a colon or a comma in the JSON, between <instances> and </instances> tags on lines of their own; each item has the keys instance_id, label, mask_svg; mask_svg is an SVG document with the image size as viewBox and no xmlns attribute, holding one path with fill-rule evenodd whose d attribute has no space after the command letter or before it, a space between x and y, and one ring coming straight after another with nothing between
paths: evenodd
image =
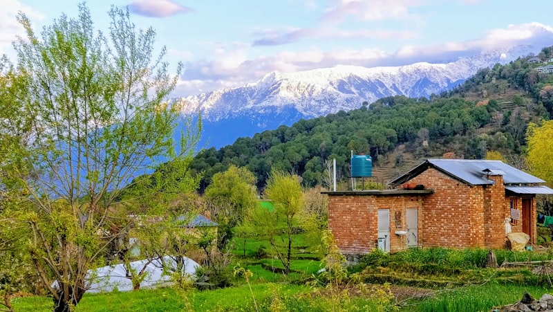
<instances>
[{"instance_id":1,"label":"large sloping grey metal roof panel atop the brick house","mask_svg":"<svg viewBox=\"0 0 553 312\"><path fill-rule=\"evenodd\" d=\"M429 159L427 161L451 176L456 176L472 185L493 184L492 181L486 178L485 173L482 172L484 169L491 170L491 174L503 172L503 183L505 184L545 182L541 178L536 178L500 160Z\"/></svg>"}]
</instances>

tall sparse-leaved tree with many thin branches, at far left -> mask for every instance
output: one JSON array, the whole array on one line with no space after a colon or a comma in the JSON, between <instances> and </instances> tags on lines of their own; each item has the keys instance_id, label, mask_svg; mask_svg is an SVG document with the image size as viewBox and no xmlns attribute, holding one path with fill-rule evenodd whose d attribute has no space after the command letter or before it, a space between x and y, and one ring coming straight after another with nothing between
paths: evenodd
<instances>
[{"instance_id":1,"label":"tall sparse-leaved tree with many thin branches, at far left","mask_svg":"<svg viewBox=\"0 0 553 312\"><path fill-rule=\"evenodd\" d=\"M7 191L27 195L3 221L28 226L26 251L55 311L81 300L87 270L116 237L111 226L127 227L131 220L122 217L148 214L144 206L122 211L122 190L161 159L191 156L197 138L189 128L176 155L180 103L167 98L181 66L169 74L165 48L153 53L155 32L136 29L128 10L112 6L109 17L104 37L85 4L77 18L62 15L40 35L26 15L18 16L26 37L15 43L17 71L25 80L11 104L26 122L2 129L19 140L1 150L1 178Z\"/></svg>"}]
</instances>

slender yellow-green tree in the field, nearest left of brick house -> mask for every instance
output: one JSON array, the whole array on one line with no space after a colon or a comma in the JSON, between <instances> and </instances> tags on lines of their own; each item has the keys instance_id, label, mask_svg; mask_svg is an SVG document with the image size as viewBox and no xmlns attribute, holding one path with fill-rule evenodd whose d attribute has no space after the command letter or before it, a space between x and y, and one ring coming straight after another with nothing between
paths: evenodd
<instances>
[{"instance_id":1,"label":"slender yellow-green tree in the field, nearest left of brick house","mask_svg":"<svg viewBox=\"0 0 553 312\"><path fill-rule=\"evenodd\" d=\"M272 250L290 273L294 229L299 226L303 208L303 191L299 176L280 171L271 172L265 195L274 204L274 210L257 208L251 211L248 223L259 237L268 239ZM281 250L281 244L286 246Z\"/></svg>"}]
</instances>

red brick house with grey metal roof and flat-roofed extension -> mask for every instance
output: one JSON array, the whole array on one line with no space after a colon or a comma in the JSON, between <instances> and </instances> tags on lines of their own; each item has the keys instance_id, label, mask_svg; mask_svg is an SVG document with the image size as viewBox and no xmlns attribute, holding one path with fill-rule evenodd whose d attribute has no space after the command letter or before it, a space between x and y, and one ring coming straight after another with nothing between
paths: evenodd
<instances>
[{"instance_id":1,"label":"red brick house with grey metal roof and flat-roofed extension","mask_svg":"<svg viewBox=\"0 0 553 312\"><path fill-rule=\"evenodd\" d=\"M328 228L346 255L505 248L509 221L536 244L536 194L553 194L544 182L499 160L429 159L388 183L393 190L325 192Z\"/></svg>"}]
</instances>

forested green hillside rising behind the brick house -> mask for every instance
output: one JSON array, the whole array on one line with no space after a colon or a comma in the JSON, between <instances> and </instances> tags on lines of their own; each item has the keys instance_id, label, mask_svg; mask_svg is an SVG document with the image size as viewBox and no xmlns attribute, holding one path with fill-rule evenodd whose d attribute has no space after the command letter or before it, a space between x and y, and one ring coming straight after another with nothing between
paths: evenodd
<instances>
[{"instance_id":1,"label":"forested green hillside rising behind the brick house","mask_svg":"<svg viewBox=\"0 0 553 312\"><path fill-rule=\"evenodd\" d=\"M229 165L247 167L262 189L271 169L295 172L303 185L328 183L328 160L336 158L338 178L349 176L350 153L371 154L381 181L429 157L484 158L489 151L519 156L529 122L553 113L551 73L534 68L548 64L552 48L505 66L480 70L456 89L430 99L383 98L361 109L300 120L252 138L238 138L221 149L205 149L191 163L203 172L200 192L213 174ZM409 160L409 161L407 161Z\"/></svg>"}]
</instances>

